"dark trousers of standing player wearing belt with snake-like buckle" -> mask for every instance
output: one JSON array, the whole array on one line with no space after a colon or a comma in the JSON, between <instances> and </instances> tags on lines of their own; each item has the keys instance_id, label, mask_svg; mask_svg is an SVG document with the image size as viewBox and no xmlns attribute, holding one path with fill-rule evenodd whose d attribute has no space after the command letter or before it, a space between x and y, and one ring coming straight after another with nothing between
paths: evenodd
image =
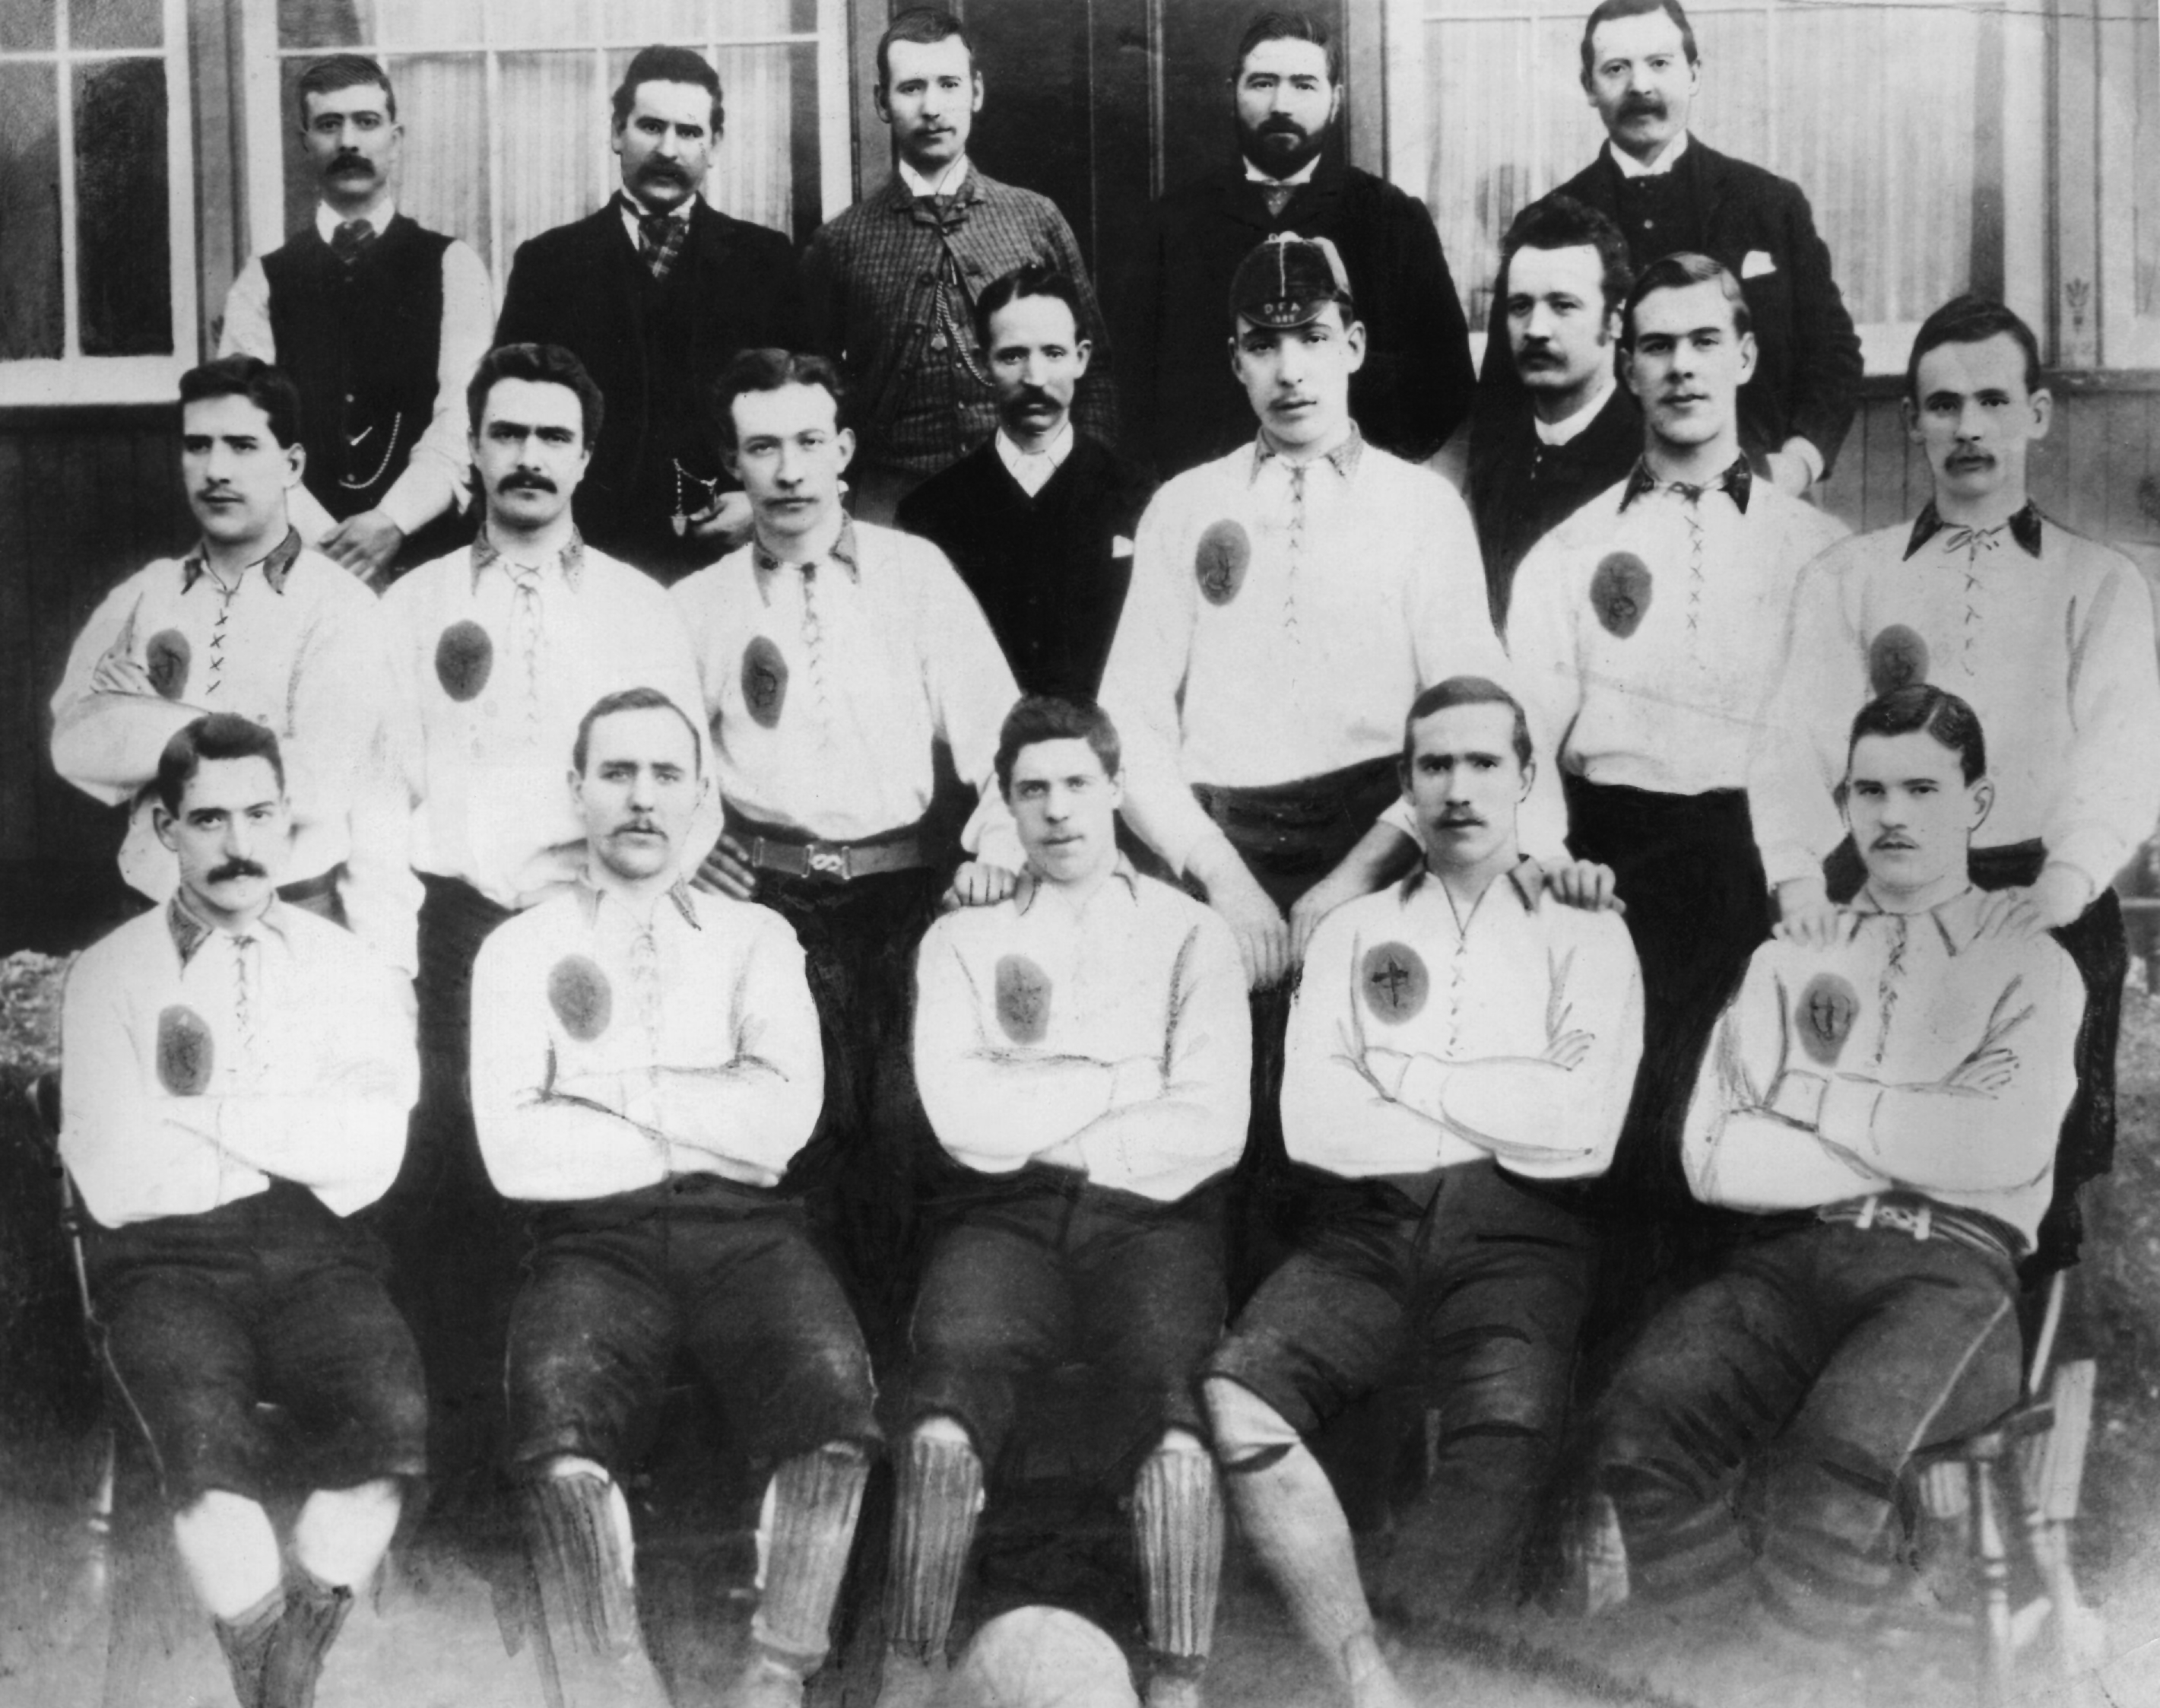
<instances>
[{"instance_id":1,"label":"dark trousers of standing player wearing belt with snake-like buckle","mask_svg":"<svg viewBox=\"0 0 2160 1708\"><path fill-rule=\"evenodd\" d=\"M804 946L825 1043L825 1108L786 1188L804 1194L873 1354L907 1324L927 1259L922 1198L944 1166L916 1095L916 948L946 872L879 872L851 883L758 875L758 900Z\"/></svg>"}]
</instances>

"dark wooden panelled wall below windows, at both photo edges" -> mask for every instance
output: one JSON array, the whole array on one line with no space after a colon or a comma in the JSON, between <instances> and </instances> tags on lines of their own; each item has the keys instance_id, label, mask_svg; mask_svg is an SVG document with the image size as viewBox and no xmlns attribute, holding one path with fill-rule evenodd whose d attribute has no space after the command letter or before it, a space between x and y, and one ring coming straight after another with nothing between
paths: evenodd
<instances>
[{"instance_id":1,"label":"dark wooden panelled wall below windows, at both photo edges","mask_svg":"<svg viewBox=\"0 0 2160 1708\"><path fill-rule=\"evenodd\" d=\"M1868 391L1825 503L1884 527L1920 507L1927 464L1894 382ZM119 816L52 773L45 706L104 589L188 542L177 469L168 406L0 415L0 952L76 946L114 905ZM2160 570L2160 376L2058 384L2035 497Z\"/></svg>"}]
</instances>

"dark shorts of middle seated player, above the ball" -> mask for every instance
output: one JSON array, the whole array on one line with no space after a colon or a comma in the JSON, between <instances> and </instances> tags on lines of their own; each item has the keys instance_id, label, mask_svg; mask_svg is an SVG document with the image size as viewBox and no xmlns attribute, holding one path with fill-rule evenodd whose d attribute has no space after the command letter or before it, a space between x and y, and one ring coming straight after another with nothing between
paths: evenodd
<instances>
[{"instance_id":1,"label":"dark shorts of middle seated player, above the ball","mask_svg":"<svg viewBox=\"0 0 2160 1708\"><path fill-rule=\"evenodd\" d=\"M1166 1205L1022 1168L944 1222L916 1300L907 1419L959 1419L996 1464L1020 1384L1086 1363L1104 1460L1138 1462L1173 1427L1205 1440L1194 1386L1225 1311L1220 1181Z\"/></svg>"}]
</instances>

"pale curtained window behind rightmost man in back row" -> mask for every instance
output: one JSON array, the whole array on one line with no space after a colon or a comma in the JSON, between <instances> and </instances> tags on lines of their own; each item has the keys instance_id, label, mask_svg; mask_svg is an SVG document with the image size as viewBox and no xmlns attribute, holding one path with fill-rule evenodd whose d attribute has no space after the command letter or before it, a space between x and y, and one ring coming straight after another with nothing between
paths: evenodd
<instances>
[{"instance_id":1,"label":"pale curtained window behind rightmost man in back row","mask_svg":"<svg viewBox=\"0 0 2160 1708\"><path fill-rule=\"evenodd\" d=\"M1389 0L1389 173L1426 199L1471 326L1514 214L1605 143L1583 95L1583 0ZM1968 0L1700 0L1691 130L1788 177L1860 326L1901 369L1972 285L2046 313L2043 19Z\"/></svg>"}]
</instances>

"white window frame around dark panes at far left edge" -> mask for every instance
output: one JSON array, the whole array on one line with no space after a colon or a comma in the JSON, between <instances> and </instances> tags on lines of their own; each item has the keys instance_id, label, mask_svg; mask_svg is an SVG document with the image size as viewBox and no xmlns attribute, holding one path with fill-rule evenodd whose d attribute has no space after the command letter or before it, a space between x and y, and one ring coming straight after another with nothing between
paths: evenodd
<instances>
[{"instance_id":1,"label":"white window frame around dark panes at far left edge","mask_svg":"<svg viewBox=\"0 0 2160 1708\"><path fill-rule=\"evenodd\" d=\"M52 48L0 50L9 65L54 65L60 155L60 354L0 358L0 408L78 408L82 404L166 404L179 376L199 361L199 279L194 244L194 67L188 54L188 0L162 0L160 48L73 48L69 0L54 2ZM76 253L76 65L153 58L164 65L164 220L171 266L173 350L164 356L82 354L80 257Z\"/></svg>"}]
</instances>

